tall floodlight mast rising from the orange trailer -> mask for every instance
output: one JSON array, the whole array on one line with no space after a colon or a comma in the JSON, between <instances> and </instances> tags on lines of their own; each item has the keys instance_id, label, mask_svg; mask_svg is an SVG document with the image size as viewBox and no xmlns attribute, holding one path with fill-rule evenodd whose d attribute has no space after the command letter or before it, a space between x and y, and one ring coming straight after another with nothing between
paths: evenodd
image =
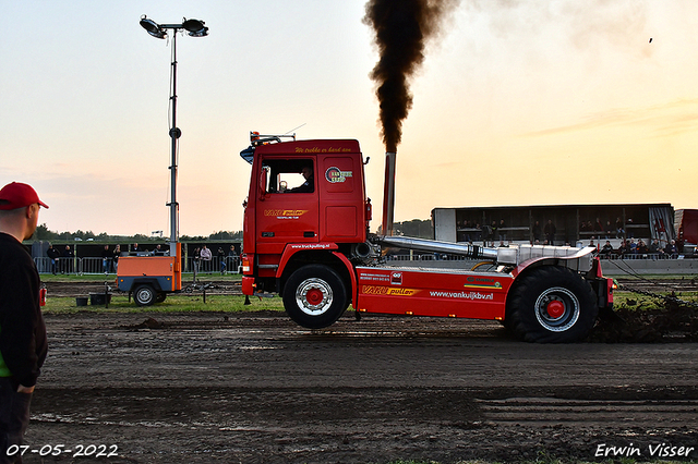
<instances>
[{"instance_id":1,"label":"tall floodlight mast rising from the orange trailer","mask_svg":"<svg viewBox=\"0 0 698 464\"><path fill-rule=\"evenodd\" d=\"M170 138L172 139L172 159L170 169L170 256L177 256L177 244L179 243L179 204L177 203L177 141L182 135L182 131L177 126L177 33L185 29L192 37L205 37L208 35L208 27L203 21L182 19L181 24L157 24L148 20L146 15L141 16L141 26L155 38L165 38L165 29L172 29L172 85L170 101L172 105L172 124L170 125Z\"/></svg>"}]
</instances>

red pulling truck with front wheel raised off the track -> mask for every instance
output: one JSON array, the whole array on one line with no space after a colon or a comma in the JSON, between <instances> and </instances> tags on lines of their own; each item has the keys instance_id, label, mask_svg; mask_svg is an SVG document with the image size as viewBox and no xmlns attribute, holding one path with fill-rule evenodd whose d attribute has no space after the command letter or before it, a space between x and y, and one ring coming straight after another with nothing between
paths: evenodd
<instances>
[{"instance_id":1,"label":"red pulling truck with front wheel raised off the track","mask_svg":"<svg viewBox=\"0 0 698 464\"><path fill-rule=\"evenodd\" d=\"M242 292L279 294L302 327L330 326L352 305L357 317L493 319L521 340L574 342L587 337L600 310L612 308L613 283L602 276L593 247L486 248L371 234L368 160L357 141L251 138L241 151L252 164ZM390 266L389 248L462 255L479 265Z\"/></svg>"}]
</instances>

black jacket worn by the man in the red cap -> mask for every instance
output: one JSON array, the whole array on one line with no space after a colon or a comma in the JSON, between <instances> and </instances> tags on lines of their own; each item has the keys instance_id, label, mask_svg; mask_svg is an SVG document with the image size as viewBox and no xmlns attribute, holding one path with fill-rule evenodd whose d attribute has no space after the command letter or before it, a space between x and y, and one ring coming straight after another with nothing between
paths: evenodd
<instances>
[{"instance_id":1,"label":"black jacket worn by the man in the red cap","mask_svg":"<svg viewBox=\"0 0 698 464\"><path fill-rule=\"evenodd\" d=\"M32 256L0 232L0 354L13 381L25 387L36 384L48 351L39 288Z\"/></svg>"}]
</instances>

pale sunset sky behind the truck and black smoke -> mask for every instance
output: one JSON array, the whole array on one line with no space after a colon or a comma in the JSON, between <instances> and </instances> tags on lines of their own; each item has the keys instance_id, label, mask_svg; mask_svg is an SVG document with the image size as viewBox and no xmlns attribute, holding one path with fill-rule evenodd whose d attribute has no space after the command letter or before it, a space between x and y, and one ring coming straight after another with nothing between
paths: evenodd
<instances>
[{"instance_id":1,"label":"pale sunset sky behind the truck and black smoke","mask_svg":"<svg viewBox=\"0 0 698 464\"><path fill-rule=\"evenodd\" d=\"M0 184L52 231L169 231L170 40L180 36L180 233L242 229L250 131L384 151L363 0L0 0ZM698 208L698 1L461 0L413 77L395 220L435 207ZM650 41L651 38L651 41ZM374 212L372 230L377 229Z\"/></svg>"}]
</instances>

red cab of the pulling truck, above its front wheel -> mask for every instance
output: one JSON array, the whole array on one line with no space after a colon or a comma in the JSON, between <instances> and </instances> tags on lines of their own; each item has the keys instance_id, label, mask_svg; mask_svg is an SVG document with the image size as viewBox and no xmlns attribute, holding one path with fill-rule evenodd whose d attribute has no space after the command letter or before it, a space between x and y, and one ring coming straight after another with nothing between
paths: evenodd
<instances>
[{"instance_id":1,"label":"red cab of the pulling truck, above its front wheel","mask_svg":"<svg viewBox=\"0 0 698 464\"><path fill-rule=\"evenodd\" d=\"M244 210L243 292L281 292L302 262L325 262L347 273L341 260L366 242L371 219L359 143L262 137L245 151L252 174Z\"/></svg>"}]
</instances>

